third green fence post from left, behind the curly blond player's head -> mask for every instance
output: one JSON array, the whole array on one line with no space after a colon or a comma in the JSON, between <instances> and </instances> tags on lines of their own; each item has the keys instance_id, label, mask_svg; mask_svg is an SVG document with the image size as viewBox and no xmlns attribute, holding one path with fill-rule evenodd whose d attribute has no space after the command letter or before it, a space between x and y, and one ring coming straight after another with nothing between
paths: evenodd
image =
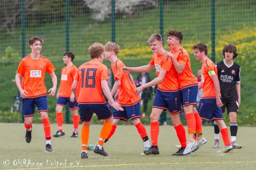
<instances>
[{"instance_id":1,"label":"third green fence post from left, behind the curly blond player's head","mask_svg":"<svg viewBox=\"0 0 256 170\"><path fill-rule=\"evenodd\" d=\"M111 0L111 41L116 42L116 2L115 0ZM112 87L115 84L115 77L113 73L111 74L111 84ZM113 112L114 109L111 107L111 111Z\"/></svg>"}]
</instances>

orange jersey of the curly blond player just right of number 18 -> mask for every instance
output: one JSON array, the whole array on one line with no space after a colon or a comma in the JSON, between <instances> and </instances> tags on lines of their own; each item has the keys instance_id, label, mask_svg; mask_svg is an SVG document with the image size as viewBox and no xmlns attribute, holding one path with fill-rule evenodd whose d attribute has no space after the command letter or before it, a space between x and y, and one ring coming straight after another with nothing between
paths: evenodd
<instances>
[{"instance_id":1,"label":"orange jersey of the curly blond player just right of number 18","mask_svg":"<svg viewBox=\"0 0 256 170\"><path fill-rule=\"evenodd\" d=\"M135 93L136 85L133 79L131 79L130 73L121 73L122 67L125 67L125 64L119 59L117 59L114 64L111 64L115 81L117 79L121 81L121 85L119 86L118 103L122 106L135 105L141 101L140 95Z\"/></svg>"}]
</instances>

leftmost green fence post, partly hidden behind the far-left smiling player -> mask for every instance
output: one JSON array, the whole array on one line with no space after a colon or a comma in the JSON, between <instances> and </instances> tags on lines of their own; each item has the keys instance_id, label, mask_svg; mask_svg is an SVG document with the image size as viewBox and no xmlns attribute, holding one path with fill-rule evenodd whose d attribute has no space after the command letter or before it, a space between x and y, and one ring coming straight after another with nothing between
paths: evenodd
<instances>
[{"instance_id":1,"label":"leftmost green fence post, partly hidden behind the far-left smiling player","mask_svg":"<svg viewBox=\"0 0 256 170\"><path fill-rule=\"evenodd\" d=\"M25 0L21 0L21 58L26 56L26 46L25 46ZM18 99L22 102L20 97L20 91L18 90ZM25 121L23 110L21 111L22 122Z\"/></svg>"}]
</instances>

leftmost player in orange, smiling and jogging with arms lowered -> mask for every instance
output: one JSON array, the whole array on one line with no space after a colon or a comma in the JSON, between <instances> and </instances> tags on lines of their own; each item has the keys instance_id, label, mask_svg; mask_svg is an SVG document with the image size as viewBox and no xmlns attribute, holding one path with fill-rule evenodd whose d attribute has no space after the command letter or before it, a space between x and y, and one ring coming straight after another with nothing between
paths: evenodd
<instances>
[{"instance_id":1,"label":"leftmost player in orange, smiling and jogging with arms lowered","mask_svg":"<svg viewBox=\"0 0 256 170\"><path fill-rule=\"evenodd\" d=\"M31 37L29 40L31 54L21 59L17 74L15 76L16 85L23 98L23 113L25 117L24 126L26 128L26 142L31 142L32 120L35 113L35 105L41 115L44 124L46 139L46 151L52 152L51 146L51 125L47 115L47 91L44 85L44 75L48 72L52 77L53 87L49 89L49 96L54 96L57 86L55 68L46 57L40 55L42 43L41 37ZM20 77L21 83L20 83Z\"/></svg>"}]
</instances>

